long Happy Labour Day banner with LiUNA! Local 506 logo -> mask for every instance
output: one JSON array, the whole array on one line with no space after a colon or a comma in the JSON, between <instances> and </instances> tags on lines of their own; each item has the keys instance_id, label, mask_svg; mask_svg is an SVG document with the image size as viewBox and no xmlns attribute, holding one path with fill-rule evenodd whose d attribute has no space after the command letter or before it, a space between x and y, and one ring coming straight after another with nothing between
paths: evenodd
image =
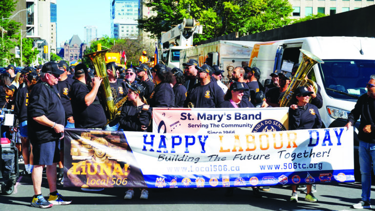
<instances>
[{"instance_id":1,"label":"long Happy Labour Day banner with LiUNA! Local 506 logo","mask_svg":"<svg viewBox=\"0 0 375 211\"><path fill-rule=\"evenodd\" d=\"M354 182L353 128L236 134L66 129L64 187Z\"/></svg>"}]
</instances>

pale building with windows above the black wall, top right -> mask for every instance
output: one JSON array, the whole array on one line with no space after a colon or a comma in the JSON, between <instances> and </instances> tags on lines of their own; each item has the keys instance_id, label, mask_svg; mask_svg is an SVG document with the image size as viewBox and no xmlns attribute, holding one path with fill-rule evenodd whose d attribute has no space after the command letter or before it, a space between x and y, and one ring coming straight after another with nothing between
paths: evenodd
<instances>
[{"instance_id":1,"label":"pale building with windows above the black wall, top right","mask_svg":"<svg viewBox=\"0 0 375 211\"><path fill-rule=\"evenodd\" d=\"M323 13L334 15L374 4L374 0L289 0L292 4L292 19L305 18Z\"/></svg>"}]
</instances>

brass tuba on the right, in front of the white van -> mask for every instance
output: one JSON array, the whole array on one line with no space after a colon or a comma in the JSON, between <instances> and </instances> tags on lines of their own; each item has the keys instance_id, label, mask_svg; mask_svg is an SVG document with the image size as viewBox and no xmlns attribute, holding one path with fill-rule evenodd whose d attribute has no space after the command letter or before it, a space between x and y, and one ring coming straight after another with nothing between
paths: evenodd
<instances>
[{"instance_id":1,"label":"brass tuba on the right, in front of the white van","mask_svg":"<svg viewBox=\"0 0 375 211\"><path fill-rule=\"evenodd\" d=\"M324 62L307 50L303 50L303 49L299 49L299 50L302 53L302 61L293 76L291 84L289 84L287 91L285 92L284 96L281 98L280 107L290 106L289 104L292 99L294 90L298 88L299 86L311 84L314 87L315 93L317 91L317 86L315 82L310 79L306 80L305 77L307 76L307 74L309 74L310 70L316 63L324 63Z\"/></svg>"}]
</instances>

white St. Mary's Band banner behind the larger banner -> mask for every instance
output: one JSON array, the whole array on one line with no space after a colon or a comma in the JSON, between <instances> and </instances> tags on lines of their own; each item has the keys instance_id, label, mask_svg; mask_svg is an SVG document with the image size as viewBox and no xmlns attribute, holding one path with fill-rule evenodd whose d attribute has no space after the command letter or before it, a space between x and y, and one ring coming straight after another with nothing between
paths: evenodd
<instances>
[{"instance_id":1,"label":"white St. Mary's Band banner behind the larger banner","mask_svg":"<svg viewBox=\"0 0 375 211\"><path fill-rule=\"evenodd\" d=\"M239 134L287 130L288 107L152 108L155 133Z\"/></svg>"}]
</instances>

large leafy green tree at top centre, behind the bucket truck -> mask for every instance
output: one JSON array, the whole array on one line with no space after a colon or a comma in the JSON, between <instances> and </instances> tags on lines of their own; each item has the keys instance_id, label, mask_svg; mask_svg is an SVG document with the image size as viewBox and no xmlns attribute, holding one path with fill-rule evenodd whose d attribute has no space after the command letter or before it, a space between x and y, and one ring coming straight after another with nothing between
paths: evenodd
<instances>
[{"instance_id":1,"label":"large leafy green tree at top centre, behind the bucket truck","mask_svg":"<svg viewBox=\"0 0 375 211\"><path fill-rule=\"evenodd\" d=\"M140 29L158 38L184 18L194 18L204 25L204 34L196 35L194 42L282 27L290 23L293 11L288 0L150 0L145 5L157 11L157 16L138 20Z\"/></svg>"}]
</instances>

